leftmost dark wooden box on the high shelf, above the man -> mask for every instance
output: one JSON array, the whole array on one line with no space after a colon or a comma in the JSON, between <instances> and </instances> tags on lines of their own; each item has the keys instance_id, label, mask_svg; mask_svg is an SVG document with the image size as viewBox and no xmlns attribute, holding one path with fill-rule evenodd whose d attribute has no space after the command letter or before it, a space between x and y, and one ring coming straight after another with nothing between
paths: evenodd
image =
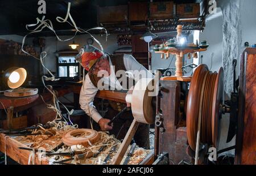
<instances>
[{"instance_id":1,"label":"leftmost dark wooden box on the high shelf, above the man","mask_svg":"<svg viewBox=\"0 0 256 176\"><path fill-rule=\"evenodd\" d=\"M128 6L98 7L99 23L126 22L128 19Z\"/></svg>"}]
</instances>

